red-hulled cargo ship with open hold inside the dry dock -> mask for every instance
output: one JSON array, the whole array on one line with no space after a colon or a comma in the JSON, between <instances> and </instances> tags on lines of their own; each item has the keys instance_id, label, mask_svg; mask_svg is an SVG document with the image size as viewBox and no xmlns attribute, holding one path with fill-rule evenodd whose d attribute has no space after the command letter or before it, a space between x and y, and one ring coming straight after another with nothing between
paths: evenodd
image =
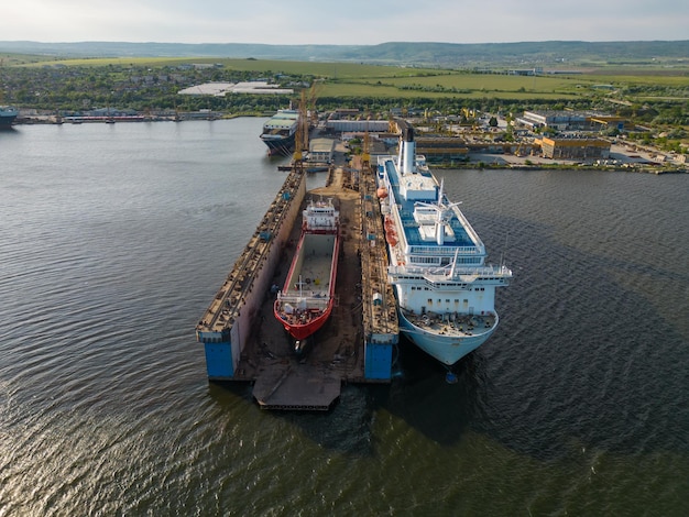
<instances>
[{"instance_id":1,"label":"red-hulled cargo ship with open hold inside the dry dock","mask_svg":"<svg viewBox=\"0 0 689 517\"><path fill-rule=\"evenodd\" d=\"M309 200L285 285L273 308L275 318L296 341L296 352L332 311L339 248L339 211L332 200Z\"/></svg>"}]
</instances>

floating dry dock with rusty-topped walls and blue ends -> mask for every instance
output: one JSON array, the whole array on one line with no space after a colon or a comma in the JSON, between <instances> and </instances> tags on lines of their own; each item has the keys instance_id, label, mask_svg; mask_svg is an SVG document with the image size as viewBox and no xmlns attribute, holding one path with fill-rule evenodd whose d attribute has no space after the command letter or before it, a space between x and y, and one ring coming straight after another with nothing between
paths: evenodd
<instances>
[{"instance_id":1,"label":"floating dry dock with rusty-topped walls and blue ends","mask_svg":"<svg viewBox=\"0 0 689 517\"><path fill-rule=\"evenodd\" d=\"M365 164L364 164L365 165ZM337 304L297 359L273 316L307 197L332 198L340 211ZM326 187L306 191L294 168L196 327L210 381L252 382L263 408L327 410L342 383L387 383L398 340L395 298L375 182L368 167L333 168Z\"/></svg>"}]
</instances>

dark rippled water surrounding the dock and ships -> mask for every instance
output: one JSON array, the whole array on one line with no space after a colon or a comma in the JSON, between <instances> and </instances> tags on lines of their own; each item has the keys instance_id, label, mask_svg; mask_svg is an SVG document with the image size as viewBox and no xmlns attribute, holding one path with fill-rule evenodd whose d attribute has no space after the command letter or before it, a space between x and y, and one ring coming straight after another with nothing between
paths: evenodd
<instances>
[{"instance_id":1,"label":"dark rippled water surrounding the dock and ships","mask_svg":"<svg viewBox=\"0 0 689 517\"><path fill-rule=\"evenodd\" d=\"M514 271L494 337L271 413L194 334L263 121L0 132L1 517L689 515L689 176L438 170Z\"/></svg>"}]
</instances>

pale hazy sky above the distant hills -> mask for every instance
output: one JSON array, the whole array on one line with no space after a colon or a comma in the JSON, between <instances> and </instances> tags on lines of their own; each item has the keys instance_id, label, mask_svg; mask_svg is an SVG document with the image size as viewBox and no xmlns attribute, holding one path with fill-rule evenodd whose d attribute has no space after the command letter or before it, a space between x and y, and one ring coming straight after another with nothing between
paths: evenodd
<instances>
[{"instance_id":1,"label":"pale hazy sky above the distant hills","mask_svg":"<svg viewBox=\"0 0 689 517\"><path fill-rule=\"evenodd\" d=\"M687 0L2 0L0 14L3 41L689 40Z\"/></svg>"}]
</instances>

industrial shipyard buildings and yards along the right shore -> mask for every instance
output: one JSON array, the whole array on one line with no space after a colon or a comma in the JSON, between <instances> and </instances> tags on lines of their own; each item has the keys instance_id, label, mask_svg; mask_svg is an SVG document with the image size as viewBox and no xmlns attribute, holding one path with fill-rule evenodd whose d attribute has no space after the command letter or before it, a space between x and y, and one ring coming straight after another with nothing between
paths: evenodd
<instances>
[{"instance_id":1,"label":"industrial shipyard buildings and yards along the right shore","mask_svg":"<svg viewBox=\"0 0 689 517\"><path fill-rule=\"evenodd\" d=\"M462 118L392 110L391 116L415 125L417 151L435 167L687 172L686 155L663 153L628 140L624 124L628 130L630 122L602 113L525 111L507 119L488 113L467 113ZM371 154L387 153L398 140L397 134L389 132L389 125L386 120L363 119L356 109L335 110L321 119L319 138L310 141L308 157L322 162L325 150L327 161L331 139L344 142L353 154L362 152L364 139ZM617 136L605 135L610 125L617 128Z\"/></svg>"}]
</instances>

